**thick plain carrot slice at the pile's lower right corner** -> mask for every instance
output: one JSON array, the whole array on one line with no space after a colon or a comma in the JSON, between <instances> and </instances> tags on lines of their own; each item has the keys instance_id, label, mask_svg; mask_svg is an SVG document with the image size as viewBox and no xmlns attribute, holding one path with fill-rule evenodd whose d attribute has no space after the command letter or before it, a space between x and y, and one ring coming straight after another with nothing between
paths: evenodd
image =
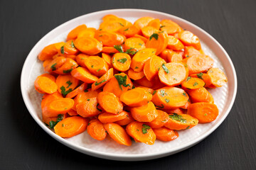
<instances>
[{"instance_id":1,"label":"thick plain carrot slice at the pile's lower right corner","mask_svg":"<svg viewBox=\"0 0 256 170\"><path fill-rule=\"evenodd\" d=\"M218 108L212 103L193 103L188 107L188 115L197 118L199 123L210 123L218 117Z\"/></svg>"}]
</instances>

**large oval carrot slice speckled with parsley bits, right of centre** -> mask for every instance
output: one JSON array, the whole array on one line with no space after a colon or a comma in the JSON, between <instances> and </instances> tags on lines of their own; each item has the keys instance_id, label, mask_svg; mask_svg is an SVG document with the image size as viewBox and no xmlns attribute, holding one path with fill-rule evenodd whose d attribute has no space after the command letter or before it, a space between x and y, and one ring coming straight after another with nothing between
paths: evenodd
<instances>
[{"instance_id":1,"label":"large oval carrot slice speckled with parsley bits, right of centre","mask_svg":"<svg viewBox=\"0 0 256 170\"><path fill-rule=\"evenodd\" d=\"M188 94L177 87L164 87L156 90L152 102L162 109L174 109L184 106L188 101Z\"/></svg>"}]
</instances>

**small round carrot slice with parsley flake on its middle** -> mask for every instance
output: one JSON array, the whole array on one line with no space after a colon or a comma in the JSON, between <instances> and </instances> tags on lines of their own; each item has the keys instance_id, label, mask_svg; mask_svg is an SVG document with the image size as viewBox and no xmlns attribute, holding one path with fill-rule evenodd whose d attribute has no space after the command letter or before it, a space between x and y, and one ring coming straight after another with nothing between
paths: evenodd
<instances>
[{"instance_id":1,"label":"small round carrot slice with parsley flake on its middle","mask_svg":"<svg viewBox=\"0 0 256 170\"><path fill-rule=\"evenodd\" d=\"M126 53L115 53L112 57L112 66L119 72L125 72L129 69L132 59Z\"/></svg>"}]
</instances>

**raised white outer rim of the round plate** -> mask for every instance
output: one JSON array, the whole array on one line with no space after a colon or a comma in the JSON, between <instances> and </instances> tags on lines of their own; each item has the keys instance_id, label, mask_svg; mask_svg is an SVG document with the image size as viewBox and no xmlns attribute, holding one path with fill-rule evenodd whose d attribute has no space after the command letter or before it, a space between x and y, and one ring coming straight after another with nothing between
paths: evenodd
<instances>
[{"instance_id":1,"label":"raised white outer rim of the round plate","mask_svg":"<svg viewBox=\"0 0 256 170\"><path fill-rule=\"evenodd\" d=\"M228 106L228 109L225 111L225 114L223 115L223 118L221 118L218 121L218 123L216 123L213 126L213 128L210 128L210 130L208 130L207 132L205 132L204 134L202 134L200 137L196 138L195 140L191 140L191 141L187 142L186 145L181 145L179 147L176 147L176 149L174 149L174 150L166 150L164 152L146 153L146 154L114 154L114 153L100 152L100 151L97 151L97 150L88 149L86 147L81 147L79 145L75 145L72 142L69 142L68 140L65 140L64 138L59 137L58 135L56 135L52 130L50 130L49 128L46 127L46 125L44 125L44 123L40 120L40 118L38 118L38 116L36 116L36 114L33 114L32 106L30 106L30 104L28 103L29 98L26 95L26 87L23 86L23 79L24 79L24 77L26 77L26 73L24 71L24 68L26 67L26 64L28 63L29 56L31 56L31 54L35 50L35 47L37 47L38 44L41 44L41 42L50 33L54 32L55 30L57 30L60 27L63 27L65 25L67 25L68 23L74 22L75 20L79 20L80 18L85 17L85 16L88 17L90 15L97 15L97 14L106 13L106 12L111 13L111 12L117 12L117 11L148 12L148 13L159 14L159 15L170 16L172 18L176 18L177 20L182 21L184 23L187 23L188 25L191 25L191 26L195 27L196 29L200 30L203 34L207 35L208 38L210 38L210 40L213 40L213 42L215 42L215 44L218 47L220 47L220 50L222 50L225 57L227 57L228 63L230 64L230 67L231 67L232 72L233 72L234 91L233 91L233 96L232 96L231 101L230 101L230 105ZM160 157L165 157L165 156L168 156L168 155L171 155L171 154L175 154L177 152L181 152L182 150L188 149L189 147L192 147L193 145L196 145L198 142L201 142L203 139L208 137L208 135L210 135L214 130L216 130L220 126L220 124L223 123L225 118L228 116L228 114L230 113L231 108L233 107L235 97L236 97L236 94L237 94L237 89L238 89L238 80L237 80L237 75L236 75L236 72L235 72L235 67L233 65L233 62L230 59L230 56L228 55L228 52L226 52L225 49L220 45L220 43L217 40L215 40L215 38L213 38L209 33L207 33L202 28L196 26L195 24L193 24L189 21L186 21L185 19L180 18L178 16L174 16L174 15L171 15L169 13L153 11L153 10L146 10L146 9L139 9L139 8L114 8L114 9L108 9L108 10L102 10L102 11L95 11L95 12L92 12L92 13L83 14L82 16L78 16L78 17L73 18L69 21L66 21L65 23L60 24L56 28L53 28L53 30L50 30L50 32L48 32L46 35L44 35L43 38L41 38L36 43L36 45L33 46L33 48L31 49L31 51L28 53L28 55L26 57L26 60L23 64L22 71L21 71L21 94L22 94L22 97L23 97L23 101L26 105L26 108L28 109L28 112L31 114L33 119L36 121L36 123L38 123L38 125L41 126L41 128L45 132L48 133L48 135L53 137L55 140L58 140L58 142L62 143L63 145L65 145L67 147L70 147L72 149L75 149L78 152L82 152L83 154L88 154L90 156L100 157L100 158L104 158L104 159L119 160L119 161L140 161L140 160L149 160L149 159L156 159L156 158L160 158Z\"/></svg>"}]
</instances>

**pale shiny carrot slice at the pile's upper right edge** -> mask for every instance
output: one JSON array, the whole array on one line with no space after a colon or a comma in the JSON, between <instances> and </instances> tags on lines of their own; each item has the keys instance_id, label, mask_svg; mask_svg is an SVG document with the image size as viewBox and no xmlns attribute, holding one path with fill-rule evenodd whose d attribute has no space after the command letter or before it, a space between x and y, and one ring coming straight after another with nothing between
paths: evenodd
<instances>
[{"instance_id":1,"label":"pale shiny carrot slice at the pile's upper right edge","mask_svg":"<svg viewBox=\"0 0 256 170\"><path fill-rule=\"evenodd\" d=\"M186 46L193 46L196 50L201 49L201 43L199 38L188 30L183 30L178 33L178 39Z\"/></svg>"}]
</instances>

